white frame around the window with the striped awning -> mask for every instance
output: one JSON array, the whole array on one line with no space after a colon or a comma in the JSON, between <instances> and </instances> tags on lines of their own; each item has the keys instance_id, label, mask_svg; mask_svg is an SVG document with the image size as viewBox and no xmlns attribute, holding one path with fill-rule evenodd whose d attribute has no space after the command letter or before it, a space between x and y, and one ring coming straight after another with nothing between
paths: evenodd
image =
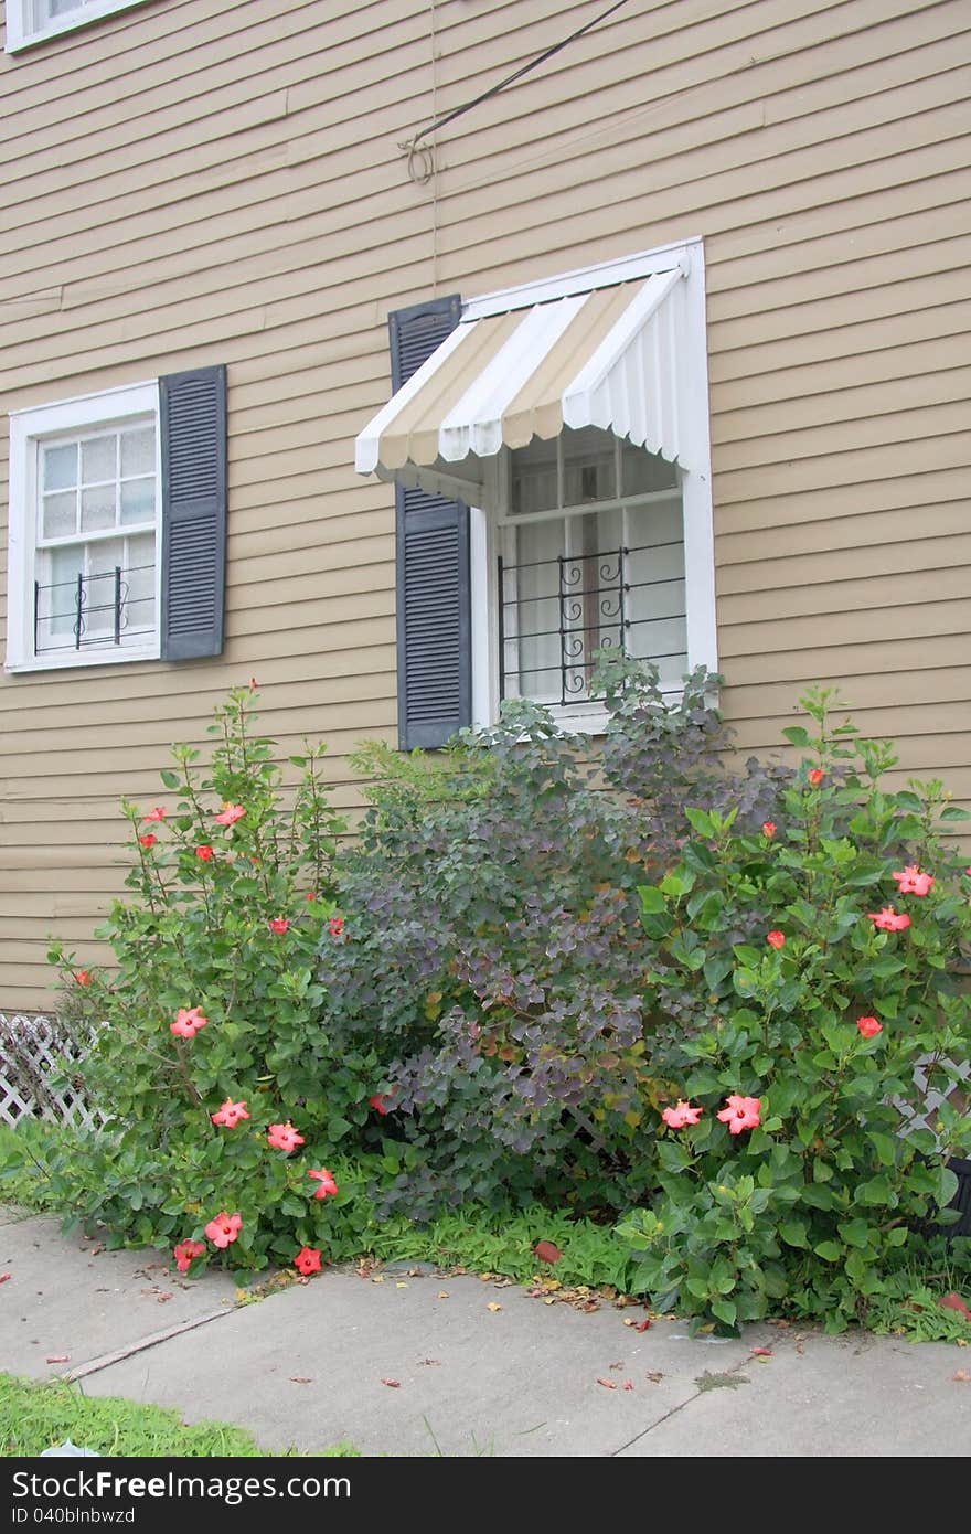
<instances>
[{"instance_id":1,"label":"white frame around the window with the striped awning","mask_svg":"<svg viewBox=\"0 0 971 1534\"><path fill-rule=\"evenodd\" d=\"M687 670L704 666L718 670L718 637L715 615L715 531L712 505L712 446L709 413L707 328L704 299L704 247L701 238L676 245L664 245L623 261L606 261L580 272L564 273L541 282L502 293L489 293L465 305L465 314L505 313L509 308L569 293L589 291L617 281L650 276L672 253L683 262L686 281L686 365L681 370L681 414L686 440L690 443L690 471L678 466L681 508L684 518L684 604L687 627ZM505 505L508 457L499 454L483 460L483 500L489 511L469 508L469 581L472 634L472 726L483 729L499 718L499 580L497 555L502 548L502 515ZM680 695L672 690L672 700ZM601 735L607 713L603 704L557 707L555 718L564 730Z\"/></svg>"}]
</instances>

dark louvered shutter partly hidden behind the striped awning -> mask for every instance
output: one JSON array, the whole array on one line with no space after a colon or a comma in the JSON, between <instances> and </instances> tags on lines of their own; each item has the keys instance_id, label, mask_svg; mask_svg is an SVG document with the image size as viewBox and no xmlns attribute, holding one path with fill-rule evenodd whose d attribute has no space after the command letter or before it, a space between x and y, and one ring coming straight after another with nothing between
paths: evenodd
<instances>
[{"instance_id":1,"label":"dark louvered shutter partly hidden behind the striped awning","mask_svg":"<svg viewBox=\"0 0 971 1534\"><path fill-rule=\"evenodd\" d=\"M388 314L391 388L407 384L456 328L462 299ZM396 491L397 733L400 749L443 746L472 721L468 506Z\"/></svg>"}]
</instances>

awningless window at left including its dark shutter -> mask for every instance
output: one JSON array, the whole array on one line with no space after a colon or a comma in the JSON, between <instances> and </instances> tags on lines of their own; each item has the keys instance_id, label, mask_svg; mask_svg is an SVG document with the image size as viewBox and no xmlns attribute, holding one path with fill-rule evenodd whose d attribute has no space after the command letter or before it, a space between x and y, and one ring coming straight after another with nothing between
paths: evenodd
<instances>
[{"instance_id":1,"label":"awningless window at left including its dark shutter","mask_svg":"<svg viewBox=\"0 0 971 1534\"><path fill-rule=\"evenodd\" d=\"M11 672L222 647L225 373L11 414Z\"/></svg>"}]
</instances>

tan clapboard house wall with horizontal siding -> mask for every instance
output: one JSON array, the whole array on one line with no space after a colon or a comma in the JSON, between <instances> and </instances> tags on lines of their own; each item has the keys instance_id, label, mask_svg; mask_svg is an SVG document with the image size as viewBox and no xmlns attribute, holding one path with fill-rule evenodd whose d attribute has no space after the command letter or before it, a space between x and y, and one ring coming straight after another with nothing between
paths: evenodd
<instances>
[{"instance_id":1,"label":"tan clapboard house wall with horizontal siding","mask_svg":"<svg viewBox=\"0 0 971 1534\"><path fill-rule=\"evenodd\" d=\"M5 410L229 367L216 661L0 678L0 1009L120 887L121 795L255 675L287 749L394 738L393 495L353 472L385 318L706 238L724 706L838 683L971 799L965 0L149 0L0 60ZM963 199L963 201L962 201ZM6 425L0 433L6 479ZM6 495L0 489L0 606Z\"/></svg>"}]
</instances>

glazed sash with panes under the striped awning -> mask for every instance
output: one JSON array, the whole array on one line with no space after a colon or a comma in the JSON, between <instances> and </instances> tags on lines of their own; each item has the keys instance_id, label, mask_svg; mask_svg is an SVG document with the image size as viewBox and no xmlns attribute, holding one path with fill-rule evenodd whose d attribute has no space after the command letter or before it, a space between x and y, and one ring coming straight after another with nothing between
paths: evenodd
<instances>
[{"instance_id":1,"label":"glazed sash with panes under the striped awning","mask_svg":"<svg viewBox=\"0 0 971 1534\"><path fill-rule=\"evenodd\" d=\"M499 528L500 696L586 712L598 649L687 670L675 465L597 428L511 454Z\"/></svg>"}]
</instances>

